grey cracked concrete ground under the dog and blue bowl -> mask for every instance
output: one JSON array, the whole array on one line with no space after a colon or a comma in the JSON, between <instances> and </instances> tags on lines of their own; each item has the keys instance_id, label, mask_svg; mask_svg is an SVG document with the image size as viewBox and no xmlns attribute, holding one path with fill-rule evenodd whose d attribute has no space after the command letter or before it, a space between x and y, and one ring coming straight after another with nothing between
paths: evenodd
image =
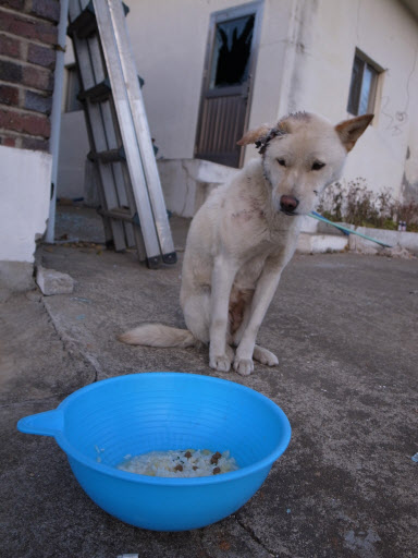
<instances>
[{"instance_id":1,"label":"grey cracked concrete ground under the dog and blue bowl","mask_svg":"<svg viewBox=\"0 0 418 558\"><path fill-rule=\"evenodd\" d=\"M87 233L78 221L81 238ZM181 247L187 222L172 223ZM74 238L63 219L58 228L58 236ZM100 242L94 229L84 240ZM42 296L33 290L3 302L1 556L416 557L418 260L295 256L259 333L280 365L256 364L244 378L209 368L205 349L115 340L150 317L183 325L179 255L176 266L151 271L134 252L41 246L44 265L70 274L74 292ZM89 500L53 438L16 430L22 416L54 409L87 384L146 371L232 379L287 414L293 436L286 452L234 515L183 533L126 525Z\"/></svg>"}]
</instances>

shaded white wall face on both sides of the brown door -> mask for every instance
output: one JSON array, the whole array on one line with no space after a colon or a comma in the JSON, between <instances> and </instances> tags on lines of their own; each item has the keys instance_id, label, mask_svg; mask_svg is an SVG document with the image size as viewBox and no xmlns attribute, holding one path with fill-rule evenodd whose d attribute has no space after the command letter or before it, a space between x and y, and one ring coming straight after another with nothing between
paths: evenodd
<instances>
[{"instance_id":1,"label":"shaded white wall face on both sides of the brown door","mask_svg":"<svg viewBox=\"0 0 418 558\"><path fill-rule=\"evenodd\" d=\"M144 100L159 155L192 158L210 15L248 0L127 0L126 19ZM280 8L278 10L278 8ZM275 114L283 38L292 0L266 0L250 122ZM269 110L266 111L266 107Z\"/></svg>"}]
</instances>

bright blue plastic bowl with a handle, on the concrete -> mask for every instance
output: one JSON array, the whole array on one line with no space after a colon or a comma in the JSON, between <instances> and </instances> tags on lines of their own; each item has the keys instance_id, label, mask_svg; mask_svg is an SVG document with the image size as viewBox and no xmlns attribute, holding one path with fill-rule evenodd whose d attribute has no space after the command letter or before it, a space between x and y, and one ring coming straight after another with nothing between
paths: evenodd
<instances>
[{"instance_id":1,"label":"bright blue plastic bowl with a handle, on the concrete","mask_svg":"<svg viewBox=\"0 0 418 558\"><path fill-rule=\"evenodd\" d=\"M53 436L98 506L156 531L202 527L236 511L291 439L286 415L267 397L233 381L182 373L97 381L53 411L22 418L17 428ZM128 453L186 448L230 450L239 469L197 478L115 469Z\"/></svg>"}]
</instances>

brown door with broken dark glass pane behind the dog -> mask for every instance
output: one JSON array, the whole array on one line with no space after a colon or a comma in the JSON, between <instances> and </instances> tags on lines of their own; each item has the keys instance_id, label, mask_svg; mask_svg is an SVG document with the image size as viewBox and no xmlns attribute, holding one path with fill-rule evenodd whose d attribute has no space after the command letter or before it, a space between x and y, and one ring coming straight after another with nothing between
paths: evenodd
<instances>
[{"instance_id":1,"label":"brown door with broken dark glass pane behind the dog","mask_svg":"<svg viewBox=\"0 0 418 558\"><path fill-rule=\"evenodd\" d=\"M195 157L241 167L250 106L262 2L212 14Z\"/></svg>"}]
</instances>

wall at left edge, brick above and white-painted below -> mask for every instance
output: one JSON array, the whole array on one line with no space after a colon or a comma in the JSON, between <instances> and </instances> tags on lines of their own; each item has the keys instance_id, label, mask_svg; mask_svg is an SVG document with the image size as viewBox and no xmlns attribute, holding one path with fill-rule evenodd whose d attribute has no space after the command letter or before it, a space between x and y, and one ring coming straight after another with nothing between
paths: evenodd
<instances>
[{"instance_id":1,"label":"wall at left edge, brick above and white-painted below","mask_svg":"<svg viewBox=\"0 0 418 558\"><path fill-rule=\"evenodd\" d=\"M0 287L32 275L48 219L59 16L58 0L0 1Z\"/></svg>"}]
</instances>

